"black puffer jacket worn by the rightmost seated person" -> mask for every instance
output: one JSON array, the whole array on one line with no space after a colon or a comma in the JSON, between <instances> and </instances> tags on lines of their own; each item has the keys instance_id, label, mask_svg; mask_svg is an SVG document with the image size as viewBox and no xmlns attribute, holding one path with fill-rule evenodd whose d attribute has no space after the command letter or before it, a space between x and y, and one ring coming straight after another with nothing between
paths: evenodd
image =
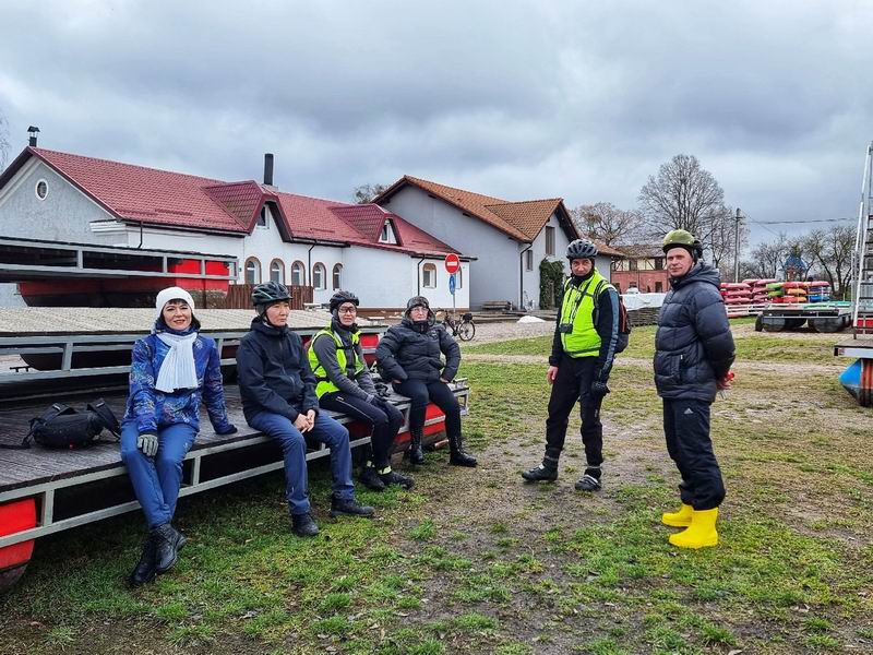
<instances>
[{"instance_id":1,"label":"black puffer jacket worn by the rightmost seated person","mask_svg":"<svg viewBox=\"0 0 873 655\"><path fill-rule=\"evenodd\" d=\"M445 355L445 365L441 354ZM451 382L461 366L461 347L429 312L427 324L417 325L407 317L388 327L376 346L375 361L385 382L435 382L440 378Z\"/></svg>"}]
</instances>

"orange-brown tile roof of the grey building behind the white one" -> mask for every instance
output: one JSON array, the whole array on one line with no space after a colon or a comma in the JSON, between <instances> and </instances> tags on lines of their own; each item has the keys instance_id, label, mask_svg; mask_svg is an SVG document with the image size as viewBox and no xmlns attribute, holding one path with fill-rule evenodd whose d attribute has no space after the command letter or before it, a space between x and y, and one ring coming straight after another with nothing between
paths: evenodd
<instances>
[{"instance_id":1,"label":"orange-brown tile roof of the grey building behind the white one","mask_svg":"<svg viewBox=\"0 0 873 655\"><path fill-rule=\"evenodd\" d=\"M456 189L455 187L447 187L446 184L405 175L380 193L373 202L379 203L391 199L394 193L406 184L412 184L444 200L462 212L488 223L518 241L530 242L536 239L552 214L558 214L569 237L575 239L583 236L573 224L561 198L510 202L500 198L474 193L473 191L465 191L464 189ZM602 254L621 255L620 252L606 243L597 242L597 246Z\"/></svg>"}]
</instances>

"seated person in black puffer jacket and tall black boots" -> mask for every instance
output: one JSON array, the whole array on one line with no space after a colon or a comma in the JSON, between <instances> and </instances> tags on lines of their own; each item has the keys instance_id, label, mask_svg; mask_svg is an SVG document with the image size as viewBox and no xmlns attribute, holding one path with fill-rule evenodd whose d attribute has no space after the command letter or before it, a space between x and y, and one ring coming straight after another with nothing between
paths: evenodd
<instances>
[{"instance_id":1,"label":"seated person in black puffer jacket and tall black boots","mask_svg":"<svg viewBox=\"0 0 873 655\"><path fill-rule=\"evenodd\" d=\"M441 355L445 355L443 364ZM391 381L394 391L410 398L409 461L423 464L421 437L424 431L424 410L433 401L445 413L445 431L455 466L476 466L476 457L464 451L461 438L461 407L447 384L461 366L461 348L454 338L436 324L428 299L415 296L406 303L399 325L388 327L375 349L376 365L382 379Z\"/></svg>"}]
</instances>

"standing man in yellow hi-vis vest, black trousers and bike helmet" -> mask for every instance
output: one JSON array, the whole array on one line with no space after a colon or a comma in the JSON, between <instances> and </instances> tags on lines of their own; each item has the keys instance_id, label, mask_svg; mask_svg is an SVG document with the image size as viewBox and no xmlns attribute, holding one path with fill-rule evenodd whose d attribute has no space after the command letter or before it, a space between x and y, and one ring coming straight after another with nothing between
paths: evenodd
<instances>
[{"instance_id":1,"label":"standing man in yellow hi-vis vest, black trousers and bike helmet","mask_svg":"<svg viewBox=\"0 0 873 655\"><path fill-rule=\"evenodd\" d=\"M602 484L600 405L609 393L607 381L619 337L619 295L595 266L596 257L597 247L588 239L576 239L567 246L571 276L564 284L546 376L552 385L546 456L539 466L522 474L528 481L558 479L558 460L564 449L570 413L578 401L587 458L585 474L576 483L579 491L597 491Z\"/></svg>"}]
</instances>

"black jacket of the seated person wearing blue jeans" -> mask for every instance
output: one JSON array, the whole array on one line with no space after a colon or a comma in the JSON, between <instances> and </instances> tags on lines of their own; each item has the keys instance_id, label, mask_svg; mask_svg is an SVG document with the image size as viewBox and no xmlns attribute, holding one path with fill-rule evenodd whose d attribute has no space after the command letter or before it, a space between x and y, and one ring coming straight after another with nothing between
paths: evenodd
<instances>
[{"instance_id":1,"label":"black jacket of the seated person wearing blue jeans","mask_svg":"<svg viewBox=\"0 0 873 655\"><path fill-rule=\"evenodd\" d=\"M315 376L300 335L292 330L254 319L251 331L239 342L237 374L246 420L260 412L291 421L310 409L319 412Z\"/></svg>"}]
</instances>

